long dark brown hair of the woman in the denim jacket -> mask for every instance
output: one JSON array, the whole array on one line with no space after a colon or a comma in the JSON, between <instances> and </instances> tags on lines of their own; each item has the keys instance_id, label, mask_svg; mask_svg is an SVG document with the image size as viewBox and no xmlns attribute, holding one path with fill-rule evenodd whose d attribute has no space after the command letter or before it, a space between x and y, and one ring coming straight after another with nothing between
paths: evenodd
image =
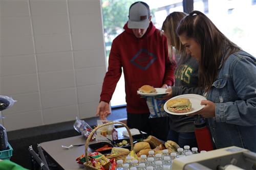
<instances>
[{"instance_id":1,"label":"long dark brown hair of the woman in the denim jacket","mask_svg":"<svg viewBox=\"0 0 256 170\"><path fill-rule=\"evenodd\" d=\"M225 50L230 55L241 50L240 47L222 34L214 23L200 11L193 11L184 17L176 32L179 36L183 34L186 38L193 38L201 45L199 84L204 90L209 91L218 77L218 67Z\"/></svg>"}]
</instances>

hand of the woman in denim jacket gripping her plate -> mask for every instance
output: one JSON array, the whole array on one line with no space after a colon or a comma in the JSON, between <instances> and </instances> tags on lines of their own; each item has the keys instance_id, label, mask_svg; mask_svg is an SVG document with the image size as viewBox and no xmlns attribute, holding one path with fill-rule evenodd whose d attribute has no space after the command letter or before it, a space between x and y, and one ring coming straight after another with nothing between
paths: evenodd
<instances>
[{"instance_id":1,"label":"hand of the woman in denim jacket gripping her plate","mask_svg":"<svg viewBox=\"0 0 256 170\"><path fill-rule=\"evenodd\" d=\"M205 107L195 113L189 114L189 116L193 116L195 114L200 114L204 118L215 117L215 103L207 100L202 100L201 105L205 105Z\"/></svg>"}]
</instances>

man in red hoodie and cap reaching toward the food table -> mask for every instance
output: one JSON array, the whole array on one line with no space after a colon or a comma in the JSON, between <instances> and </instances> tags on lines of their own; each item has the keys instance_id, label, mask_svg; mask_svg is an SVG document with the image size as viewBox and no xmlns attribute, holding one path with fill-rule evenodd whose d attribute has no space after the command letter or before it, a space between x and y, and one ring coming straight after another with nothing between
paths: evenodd
<instances>
[{"instance_id":1,"label":"man in red hoodie and cap reaching toward the food table","mask_svg":"<svg viewBox=\"0 0 256 170\"><path fill-rule=\"evenodd\" d=\"M176 63L170 62L167 39L151 22L150 8L146 3L131 5L129 20L123 28L124 31L112 43L96 115L106 119L110 114L109 103L123 67L127 126L150 133L150 111L137 90L143 85L155 88L174 85Z\"/></svg>"}]
</instances>

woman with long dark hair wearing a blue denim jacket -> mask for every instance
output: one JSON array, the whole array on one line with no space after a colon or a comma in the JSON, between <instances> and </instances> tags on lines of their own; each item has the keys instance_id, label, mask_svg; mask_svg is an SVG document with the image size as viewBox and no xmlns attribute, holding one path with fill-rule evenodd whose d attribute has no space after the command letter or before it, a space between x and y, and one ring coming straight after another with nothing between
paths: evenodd
<instances>
[{"instance_id":1,"label":"woman with long dark hair wearing a blue denim jacket","mask_svg":"<svg viewBox=\"0 0 256 170\"><path fill-rule=\"evenodd\" d=\"M235 145L256 152L256 59L199 11L182 19L177 34L186 53L199 61L207 100L195 114L207 118L216 148Z\"/></svg>"}]
</instances>

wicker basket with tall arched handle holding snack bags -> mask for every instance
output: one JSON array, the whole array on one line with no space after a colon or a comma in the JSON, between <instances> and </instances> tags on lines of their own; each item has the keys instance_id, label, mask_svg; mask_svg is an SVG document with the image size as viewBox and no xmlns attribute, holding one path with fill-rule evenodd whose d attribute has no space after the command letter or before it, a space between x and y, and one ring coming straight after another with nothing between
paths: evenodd
<instances>
[{"instance_id":1,"label":"wicker basket with tall arched handle holding snack bags","mask_svg":"<svg viewBox=\"0 0 256 170\"><path fill-rule=\"evenodd\" d=\"M131 131L130 129L123 123L121 122L110 122L110 123L106 123L106 124L103 124L103 125L100 125L100 126L97 126L91 133L90 135L88 136L87 140L86 140L86 149L85 149L85 158L86 158L86 162L83 164L84 166L86 167L89 167L89 168L92 168L92 169L98 169L98 170L101 170L99 168L96 168L94 167L89 159L88 159L88 145L89 145L89 142L93 136L93 134L99 129L99 128L102 128L104 126L109 126L109 125L113 125L113 124L121 124L122 126L124 126L129 134L129 138L130 138L130 143L131 143L131 150L133 150L133 137L132 137L132 134L131 134ZM112 158L116 158L116 159L125 159L125 157L130 153L129 152L123 152L123 153L120 153L120 154L116 154L116 155L110 155L110 156L107 156L106 158L109 158L109 159L112 159Z\"/></svg>"}]
</instances>

